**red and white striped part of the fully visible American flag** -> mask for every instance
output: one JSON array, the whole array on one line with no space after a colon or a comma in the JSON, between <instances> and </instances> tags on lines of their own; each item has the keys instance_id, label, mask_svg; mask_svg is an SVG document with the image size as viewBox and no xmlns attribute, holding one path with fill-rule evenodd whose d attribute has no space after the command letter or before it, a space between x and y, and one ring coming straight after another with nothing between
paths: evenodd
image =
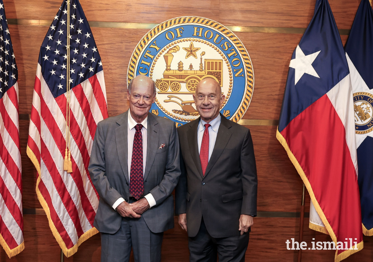
<instances>
[{"instance_id":1,"label":"red and white striped part of the fully visible American flag","mask_svg":"<svg viewBox=\"0 0 373 262\"><path fill-rule=\"evenodd\" d=\"M103 71L73 87L70 97L72 173L67 173L63 170L66 93L57 98L53 97L38 64L29 126L28 155L36 160L34 164L40 170L37 193L41 196L44 209L49 209L48 218L57 231L53 232L54 228L51 226L52 232L57 241L62 239L66 249L64 250L61 243L60 246L65 254L72 255L76 252L76 246L82 242L79 242L79 239L93 228L98 207L98 194L90 180L88 164L97 123L108 117ZM29 154L30 151L35 157ZM87 234L94 233L90 231Z\"/></svg>"}]
</instances>

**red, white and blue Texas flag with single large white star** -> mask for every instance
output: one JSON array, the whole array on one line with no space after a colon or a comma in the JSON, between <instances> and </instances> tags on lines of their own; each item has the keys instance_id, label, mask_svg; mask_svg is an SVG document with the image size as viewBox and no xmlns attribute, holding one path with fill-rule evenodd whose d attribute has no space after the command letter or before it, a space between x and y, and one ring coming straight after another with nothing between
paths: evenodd
<instances>
[{"instance_id":1,"label":"red, white and blue Texas flag with single large white star","mask_svg":"<svg viewBox=\"0 0 373 262\"><path fill-rule=\"evenodd\" d=\"M329 234L335 243L335 261L361 250L350 71L327 0L316 1L291 57L276 136L320 217L311 228Z\"/></svg>"}]
</instances>

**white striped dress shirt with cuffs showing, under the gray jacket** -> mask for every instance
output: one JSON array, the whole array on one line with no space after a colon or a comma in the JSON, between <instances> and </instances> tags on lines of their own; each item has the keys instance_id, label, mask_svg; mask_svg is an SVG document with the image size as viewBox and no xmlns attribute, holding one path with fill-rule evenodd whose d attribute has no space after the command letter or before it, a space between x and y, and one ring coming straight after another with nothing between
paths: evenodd
<instances>
[{"instance_id":1,"label":"white striped dress shirt with cuffs showing, under the gray jacket","mask_svg":"<svg viewBox=\"0 0 373 262\"><path fill-rule=\"evenodd\" d=\"M128 155L127 155L127 164L128 164L128 181L131 181L131 161L132 161L132 149L134 146L134 138L136 129L135 126L138 123L132 118L131 113L128 111L128 125L127 125L127 143L128 143ZM140 124L142 124L141 134L142 134L142 168L144 175L145 173L145 164L146 164L146 153L147 153L147 145L148 145L148 117L144 119ZM144 196L146 200L148 201L150 207L156 205L156 200L154 199L153 195L151 193L148 193L148 195ZM124 201L123 198L118 198L117 201L113 204L113 208L116 209L117 206L119 206L120 203Z\"/></svg>"}]
</instances>

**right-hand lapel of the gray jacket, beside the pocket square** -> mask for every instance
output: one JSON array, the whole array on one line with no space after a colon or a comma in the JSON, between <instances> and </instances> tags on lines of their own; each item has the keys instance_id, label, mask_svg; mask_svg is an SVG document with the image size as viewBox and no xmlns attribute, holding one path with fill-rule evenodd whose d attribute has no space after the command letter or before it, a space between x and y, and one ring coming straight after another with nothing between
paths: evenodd
<instances>
[{"instance_id":1,"label":"right-hand lapel of the gray jacket, beside the pocket square","mask_svg":"<svg viewBox=\"0 0 373 262\"><path fill-rule=\"evenodd\" d=\"M157 126L158 122L153 114L148 114L148 147L147 147L147 154L146 154L146 165L145 165L145 173L144 173L144 180L148 177L150 172L151 166L153 165L154 158L157 154L158 149L158 141L159 141L159 129Z\"/></svg>"}]
</instances>

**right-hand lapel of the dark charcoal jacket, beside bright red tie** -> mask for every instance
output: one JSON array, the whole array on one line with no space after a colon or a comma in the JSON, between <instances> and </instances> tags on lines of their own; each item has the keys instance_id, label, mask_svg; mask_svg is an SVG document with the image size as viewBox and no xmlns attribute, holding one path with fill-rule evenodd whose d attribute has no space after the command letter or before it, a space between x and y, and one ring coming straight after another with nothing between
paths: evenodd
<instances>
[{"instance_id":1,"label":"right-hand lapel of the dark charcoal jacket, beside bright red tie","mask_svg":"<svg viewBox=\"0 0 373 262\"><path fill-rule=\"evenodd\" d=\"M216 164L224 148L226 147L229 139L231 138L232 132L229 128L232 127L230 120L226 119L224 116L220 115L222 120L220 122L219 129L217 130L216 141L214 145L214 150L212 151L209 164L207 164L205 176L209 174L211 168ZM201 165L201 164L200 164Z\"/></svg>"}]
</instances>

